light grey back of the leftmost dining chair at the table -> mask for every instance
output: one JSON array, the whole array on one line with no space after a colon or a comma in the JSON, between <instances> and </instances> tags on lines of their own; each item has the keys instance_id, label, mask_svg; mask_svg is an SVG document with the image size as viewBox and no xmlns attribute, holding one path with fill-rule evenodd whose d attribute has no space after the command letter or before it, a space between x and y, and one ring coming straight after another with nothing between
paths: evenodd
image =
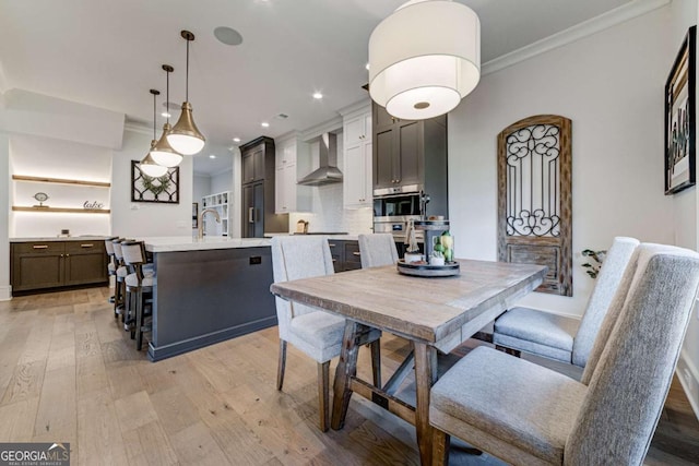
<instances>
[{"instance_id":1,"label":"light grey back of the leftmost dining chair at the table","mask_svg":"<svg viewBox=\"0 0 699 466\"><path fill-rule=\"evenodd\" d=\"M325 236L277 236L272 238L274 283L334 274L332 254ZM289 339L292 319L317 311L304 304L276 299L280 337Z\"/></svg>"}]
</instances>

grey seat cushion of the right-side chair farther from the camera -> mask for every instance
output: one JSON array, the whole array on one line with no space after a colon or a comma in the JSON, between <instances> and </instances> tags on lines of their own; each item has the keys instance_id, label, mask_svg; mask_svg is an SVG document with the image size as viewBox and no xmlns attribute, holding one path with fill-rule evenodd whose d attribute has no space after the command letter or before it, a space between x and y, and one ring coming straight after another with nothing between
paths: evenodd
<instances>
[{"instance_id":1,"label":"grey seat cushion of the right-side chair farther from the camera","mask_svg":"<svg viewBox=\"0 0 699 466\"><path fill-rule=\"evenodd\" d=\"M495 321L493 343L570 363L580 321L529 308L513 308Z\"/></svg>"}]
</instances>

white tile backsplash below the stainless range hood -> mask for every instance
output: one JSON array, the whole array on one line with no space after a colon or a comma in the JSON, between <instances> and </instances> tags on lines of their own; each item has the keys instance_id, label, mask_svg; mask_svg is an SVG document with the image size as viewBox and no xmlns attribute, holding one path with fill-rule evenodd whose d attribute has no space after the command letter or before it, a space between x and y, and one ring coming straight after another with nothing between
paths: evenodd
<instances>
[{"instance_id":1,"label":"white tile backsplash below the stainless range hood","mask_svg":"<svg viewBox=\"0 0 699 466\"><path fill-rule=\"evenodd\" d=\"M296 223L308 222L308 231L346 231L350 235L370 234L374 227L371 208L345 210L342 202L342 183L313 188L312 212L292 213L289 232Z\"/></svg>"}]
</instances>

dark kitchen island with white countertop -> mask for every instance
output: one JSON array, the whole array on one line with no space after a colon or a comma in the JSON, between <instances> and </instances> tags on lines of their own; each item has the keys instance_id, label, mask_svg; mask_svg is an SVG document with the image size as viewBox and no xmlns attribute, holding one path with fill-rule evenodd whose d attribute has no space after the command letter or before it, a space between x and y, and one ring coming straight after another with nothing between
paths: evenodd
<instances>
[{"instance_id":1,"label":"dark kitchen island with white countertop","mask_svg":"<svg viewBox=\"0 0 699 466\"><path fill-rule=\"evenodd\" d=\"M276 325L263 238L144 238L153 254L152 361Z\"/></svg>"}]
</instances>

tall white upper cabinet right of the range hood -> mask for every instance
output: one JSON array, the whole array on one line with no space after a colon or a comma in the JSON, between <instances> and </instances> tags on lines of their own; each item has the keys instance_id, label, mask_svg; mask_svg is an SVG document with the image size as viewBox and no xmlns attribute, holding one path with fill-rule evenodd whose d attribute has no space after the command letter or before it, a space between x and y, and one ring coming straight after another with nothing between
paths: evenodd
<instances>
[{"instance_id":1,"label":"tall white upper cabinet right of the range hood","mask_svg":"<svg viewBox=\"0 0 699 466\"><path fill-rule=\"evenodd\" d=\"M367 105L343 119L345 208L370 207L371 178L371 108Z\"/></svg>"}]
</instances>

